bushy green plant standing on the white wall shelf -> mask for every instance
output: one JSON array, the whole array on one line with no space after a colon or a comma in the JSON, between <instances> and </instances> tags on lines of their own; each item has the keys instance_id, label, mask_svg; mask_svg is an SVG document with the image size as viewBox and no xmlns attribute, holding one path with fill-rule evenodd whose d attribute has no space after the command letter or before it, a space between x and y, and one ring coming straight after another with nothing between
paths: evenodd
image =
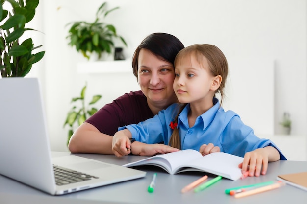
<instances>
[{"instance_id":1,"label":"bushy green plant standing on the white wall shelf","mask_svg":"<svg viewBox=\"0 0 307 204\"><path fill-rule=\"evenodd\" d=\"M69 35L66 37L69 39L68 45L75 46L76 50L87 59L90 59L90 54L93 52L98 54L99 59L102 53L112 53L115 38L119 38L127 46L124 38L116 33L115 27L102 21L110 12L118 8L106 10L106 2L104 2L97 10L94 22L68 23L66 26L72 24L68 31Z\"/></svg>"}]
</instances>

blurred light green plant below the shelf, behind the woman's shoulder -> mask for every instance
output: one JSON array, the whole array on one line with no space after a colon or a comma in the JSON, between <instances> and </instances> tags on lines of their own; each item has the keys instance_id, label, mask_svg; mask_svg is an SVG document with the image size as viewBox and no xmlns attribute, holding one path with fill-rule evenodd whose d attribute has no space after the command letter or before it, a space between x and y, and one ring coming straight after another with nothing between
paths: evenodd
<instances>
[{"instance_id":1,"label":"blurred light green plant below the shelf, behind the woman's shoulder","mask_svg":"<svg viewBox=\"0 0 307 204\"><path fill-rule=\"evenodd\" d=\"M75 103L79 101L81 105L79 107L73 106L71 110L67 113L67 117L63 128L68 125L70 129L68 130L68 138L67 144L74 133L74 130L77 126L81 125L89 116L93 115L97 112L97 109L89 106L95 104L99 99L101 99L101 95L94 95L92 100L89 102L88 107L85 106L85 92L86 92L86 84L82 88L80 96L72 99L71 103Z\"/></svg>"}]
</instances>

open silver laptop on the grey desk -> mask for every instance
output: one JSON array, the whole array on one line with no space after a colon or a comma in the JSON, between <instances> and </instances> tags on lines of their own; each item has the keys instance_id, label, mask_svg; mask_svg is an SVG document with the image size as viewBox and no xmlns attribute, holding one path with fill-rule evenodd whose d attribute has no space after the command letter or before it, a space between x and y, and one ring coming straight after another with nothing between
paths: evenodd
<instances>
[{"instance_id":1,"label":"open silver laptop on the grey desk","mask_svg":"<svg viewBox=\"0 0 307 204\"><path fill-rule=\"evenodd\" d=\"M144 171L75 155L52 158L43 107L37 78L0 79L1 175L51 195L145 177ZM55 170L79 177L56 184Z\"/></svg>"}]
</instances>

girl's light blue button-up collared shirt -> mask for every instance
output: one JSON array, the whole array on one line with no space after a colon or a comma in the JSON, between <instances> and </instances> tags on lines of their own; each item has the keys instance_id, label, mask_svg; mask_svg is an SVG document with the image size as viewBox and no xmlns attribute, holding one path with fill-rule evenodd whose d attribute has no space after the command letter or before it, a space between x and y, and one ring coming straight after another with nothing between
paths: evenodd
<instances>
[{"instance_id":1,"label":"girl's light blue button-up collared shirt","mask_svg":"<svg viewBox=\"0 0 307 204\"><path fill-rule=\"evenodd\" d=\"M260 139L254 135L251 127L245 125L240 116L233 111L224 111L217 98L213 99L214 106L196 118L195 124L189 127L189 104L184 107L178 117L179 136L181 149L194 149L199 151L201 145L213 143L219 146L221 152L244 157L246 152L266 146L275 147L281 155L281 160L286 158L280 149L269 139ZM173 130L169 126L178 114L179 104L172 104L167 109L160 111L153 118L138 124L127 125L127 128L136 141L154 144L169 143Z\"/></svg>"}]
</instances>

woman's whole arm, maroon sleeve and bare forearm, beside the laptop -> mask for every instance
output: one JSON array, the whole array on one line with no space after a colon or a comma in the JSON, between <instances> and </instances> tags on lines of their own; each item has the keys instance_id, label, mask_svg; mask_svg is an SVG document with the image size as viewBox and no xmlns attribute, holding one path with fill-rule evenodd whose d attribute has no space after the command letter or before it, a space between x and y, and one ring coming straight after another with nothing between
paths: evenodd
<instances>
[{"instance_id":1,"label":"woman's whole arm, maroon sleeve and bare forearm, beside the laptop","mask_svg":"<svg viewBox=\"0 0 307 204\"><path fill-rule=\"evenodd\" d=\"M141 91L131 91L104 105L74 132L68 148L72 153L114 154L112 138L119 127L153 117Z\"/></svg>"}]
</instances>

